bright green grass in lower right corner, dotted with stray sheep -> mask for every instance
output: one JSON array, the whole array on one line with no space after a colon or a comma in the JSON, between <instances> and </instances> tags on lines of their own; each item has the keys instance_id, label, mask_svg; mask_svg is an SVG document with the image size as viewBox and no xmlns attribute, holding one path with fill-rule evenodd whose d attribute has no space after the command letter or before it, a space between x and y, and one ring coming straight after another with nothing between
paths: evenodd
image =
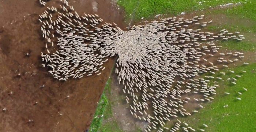
<instances>
[{"instance_id":1,"label":"bright green grass in lower right corner, dotted with stray sheep","mask_svg":"<svg viewBox=\"0 0 256 132\"><path fill-rule=\"evenodd\" d=\"M183 118L193 128L203 128L208 125L208 132L253 132L256 130L256 63L232 68L236 74L242 75L236 85L226 81L235 75L225 75L217 88L217 95L212 103L208 103L199 113ZM241 70L246 73L241 73ZM227 70L223 70L227 73ZM218 74L215 76L219 76ZM216 81L216 80L215 80ZM244 88L248 89L245 91ZM230 95L225 95L229 92ZM242 95L238 95L241 92ZM237 100L240 97L242 100ZM224 105L228 105L224 108Z\"/></svg>"}]
</instances>

